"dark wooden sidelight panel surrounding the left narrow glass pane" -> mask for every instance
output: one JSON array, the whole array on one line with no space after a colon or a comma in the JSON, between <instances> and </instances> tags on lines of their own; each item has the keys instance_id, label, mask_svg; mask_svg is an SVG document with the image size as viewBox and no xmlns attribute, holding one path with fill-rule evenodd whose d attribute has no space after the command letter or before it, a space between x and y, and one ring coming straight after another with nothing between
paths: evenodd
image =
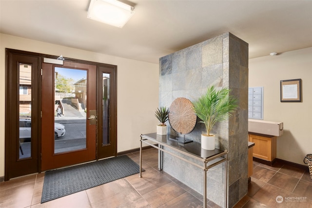
<instances>
[{"instance_id":1,"label":"dark wooden sidelight panel surrounding the left narrow glass pane","mask_svg":"<svg viewBox=\"0 0 312 208\"><path fill-rule=\"evenodd\" d=\"M19 95L17 89L17 83L19 83L19 75L16 74L18 63L27 63L26 59L37 59L37 63L32 64L32 92L36 92L32 95L32 118L37 122L33 122L32 125L32 142L31 142L31 158L18 159L19 149L17 149L18 133L16 128L19 128L18 116L18 102ZM30 62L28 62L30 63ZM40 98L38 98L39 85L41 84L39 79L40 57L34 53L20 53L20 51L6 49L6 79L5 79L5 168L4 168L4 180L7 181L10 178L19 176L19 174L29 174L29 171L39 171L39 137L34 132L40 132L39 127L39 108ZM36 79L36 80L35 80ZM34 84L35 83L35 84ZM37 109L37 110L36 110ZM8 151L10 150L10 151ZM11 151L12 150L12 151ZM12 165L14 164L14 165ZM37 168L36 168L37 167ZM17 170L18 169L18 170ZM19 171L19 174L16 174Z\"/></svg>"}]
</instances>

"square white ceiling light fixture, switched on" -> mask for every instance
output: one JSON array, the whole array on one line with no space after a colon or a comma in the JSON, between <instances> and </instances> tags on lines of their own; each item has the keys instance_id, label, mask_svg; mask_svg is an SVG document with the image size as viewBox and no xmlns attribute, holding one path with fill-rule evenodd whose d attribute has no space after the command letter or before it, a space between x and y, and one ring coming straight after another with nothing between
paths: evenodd
<instances>
[{"instance_id":1,"label":"square white ceiling light fixture, switched on","mask_svg":"<svg viewBox=\"0 0 312 208\"><path fill-rule=\"evenodd\" d=\"M117 0L91 0L87 18L122 28L135 13L133 10Z\"/></svg>"}]
</instances>

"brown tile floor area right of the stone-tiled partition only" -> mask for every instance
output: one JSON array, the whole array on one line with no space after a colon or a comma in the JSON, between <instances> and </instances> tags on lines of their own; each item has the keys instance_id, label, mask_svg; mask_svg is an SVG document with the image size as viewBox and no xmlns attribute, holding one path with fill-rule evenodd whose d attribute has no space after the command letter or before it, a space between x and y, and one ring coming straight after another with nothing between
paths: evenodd
<instances>
[{"instance_id":1,"label":"brown tile floor area right of the stone-tiled partition only","mask_svg":"<svg viewBox=\"0 0 312 208\"><path fill-rule=\"evenodd\" d=\"M281 196L283 201L276 197ZM281 198L280 198L281 199ZM312 178L308 170L254 161L248 193L234 208L312 208Z\"/></svg>"}]
</instances>

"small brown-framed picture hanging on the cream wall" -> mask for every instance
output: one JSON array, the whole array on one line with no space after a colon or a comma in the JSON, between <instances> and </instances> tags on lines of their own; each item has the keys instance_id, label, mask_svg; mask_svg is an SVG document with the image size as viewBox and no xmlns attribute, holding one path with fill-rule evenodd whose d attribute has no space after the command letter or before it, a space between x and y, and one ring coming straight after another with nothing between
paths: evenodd
<instances>
[{"instance_id":1,"label":"small brown-framed picture hanging on the cream wall","mask_svg":"<svg viewBox=\"0 0 312 208\"><path fill-rule=\"evenodd\" d=\"M301 102L301 79L280 81L281 102Z\"/></svg>"}]
</instances>

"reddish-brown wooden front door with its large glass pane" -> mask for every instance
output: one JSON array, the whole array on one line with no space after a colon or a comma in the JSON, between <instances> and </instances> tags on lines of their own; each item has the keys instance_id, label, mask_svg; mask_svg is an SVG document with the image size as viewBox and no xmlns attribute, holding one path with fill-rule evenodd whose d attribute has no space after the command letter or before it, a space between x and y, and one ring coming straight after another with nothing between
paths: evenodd
<instances>
[{"instance_id":1,"label":"reddish-brown wooden front door with its large glass pane","mask_svg":"<svg viewBox=\"0 0 312 208\"><path fill-rule=\"evenodd\" d=\"M41 170L96 159L97 66L42 63Z\"/></svg>"}]
</instances>

